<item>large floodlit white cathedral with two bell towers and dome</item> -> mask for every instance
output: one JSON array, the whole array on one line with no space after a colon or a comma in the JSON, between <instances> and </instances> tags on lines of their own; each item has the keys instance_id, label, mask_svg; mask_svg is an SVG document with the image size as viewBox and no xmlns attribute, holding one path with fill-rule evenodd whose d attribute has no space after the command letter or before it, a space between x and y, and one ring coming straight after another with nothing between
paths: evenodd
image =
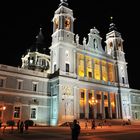
<instances>
[{"instance_id":1,"label":"large floodlit white cathedral with two bell towers and dome","mask_svg":"<svg viewBox=\"0 0 140 140\"><path fill-rule=\"evenodd\" d=\"M129 87L123 39L112 22L105 47L94 27L74 33L73 10L61 0L52 19L50 55L36 42L21 67L0 64L0 119L57 126L73 119L140 119L140 91Z\"/></svg>"}]
</instances>

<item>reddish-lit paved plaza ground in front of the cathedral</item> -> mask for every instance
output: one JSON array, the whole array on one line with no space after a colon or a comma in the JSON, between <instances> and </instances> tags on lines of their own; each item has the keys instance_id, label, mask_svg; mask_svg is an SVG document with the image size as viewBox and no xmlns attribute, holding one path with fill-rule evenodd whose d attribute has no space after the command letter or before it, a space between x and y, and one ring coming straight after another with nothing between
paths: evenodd
<instances>
[{"instance_id":1,"label":"reddish-lit paved plaza ground in front of the cathedral","mask_svg":"<svg viewBox=\"0 0 140 140\"><path fill-rule=\"evenodd\" d=\"M79 140L140 140L140 123L132 125L98 126L95 130L89 127L85 129L81 123L81 134ZM0 140L70 140L71 131L69 127L30 127L28 132L20 134L16 127L12 133L9 127L5 133L0 133Z\"/></svg>"}]
</instances>

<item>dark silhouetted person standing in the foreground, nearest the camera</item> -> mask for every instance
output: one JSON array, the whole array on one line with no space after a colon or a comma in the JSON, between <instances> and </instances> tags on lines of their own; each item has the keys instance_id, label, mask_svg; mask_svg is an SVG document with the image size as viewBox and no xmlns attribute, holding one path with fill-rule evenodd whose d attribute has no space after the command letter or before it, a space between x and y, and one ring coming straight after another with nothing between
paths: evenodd
<instances>
[{"instance_id":1,"label":"dark silhouetted person standing in the foreground, nearest the camera","mask_svg":"<svg viewBox=\"0 0 140 140\"><path fill-rule=\"evenodd\" d=\"M80 129L81 129L80 125L78 124L77 120L74 119L71 125L72 140L78 140Z\"/></svg>"}]
</instances>

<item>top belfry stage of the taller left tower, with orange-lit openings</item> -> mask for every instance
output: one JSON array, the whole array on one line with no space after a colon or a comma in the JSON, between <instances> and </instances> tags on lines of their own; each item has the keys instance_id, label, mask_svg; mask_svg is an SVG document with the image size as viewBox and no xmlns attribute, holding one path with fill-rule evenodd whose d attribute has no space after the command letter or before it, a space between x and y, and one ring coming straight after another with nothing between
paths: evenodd
<instances>
[{"instance_id":1,"label":"top belfry stage of the taller left tower, with orange-lit openings","mask_svg":"<svg viewBox=\"0 0 140 140\"><path fill-rule=\"evenodd\" d=\"M61 0L53 18L52 43L61 40L66 42L74 41L73 34L73 11L68 8L67 0Z\"/></svg>"}]
</instances>

